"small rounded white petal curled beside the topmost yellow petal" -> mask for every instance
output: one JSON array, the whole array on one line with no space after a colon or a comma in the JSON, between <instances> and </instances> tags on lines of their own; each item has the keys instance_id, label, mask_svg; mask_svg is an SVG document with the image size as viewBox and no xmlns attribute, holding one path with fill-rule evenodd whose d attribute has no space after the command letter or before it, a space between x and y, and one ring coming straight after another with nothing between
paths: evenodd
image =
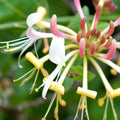
<instances>
[{"instance_id":1,"label":"small rounded white petal curled beside the topmost yellow petal","mask_svg":"<svg viewBox=\"0 0 120 120\"><path fill-rule=\"evenodd\" d=\"M40 20L40 15L38 13L32 13L27 17L27 25L33 26L35 23L39 22Z\"/></svg>"}]
</instances>

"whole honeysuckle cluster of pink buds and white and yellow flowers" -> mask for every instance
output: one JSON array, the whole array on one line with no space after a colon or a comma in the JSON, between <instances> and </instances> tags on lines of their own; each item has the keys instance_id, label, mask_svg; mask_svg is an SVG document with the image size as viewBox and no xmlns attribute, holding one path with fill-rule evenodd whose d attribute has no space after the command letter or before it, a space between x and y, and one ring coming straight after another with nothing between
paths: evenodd
<instances>
[{"instance_id":1,"label":"whole honeysuckle cluster of pink buds and white and yellow flowers","mask_svg":"<svg viewBox=\"0 0 120 120\"><path fill-rule=\"evenodd\" d=\"M120 43L117 42L111 35L114 32L116 26L120 25L120 18L116 21L110 21L110 25L105 28L103 31L97 30L97 24L99 21L99 17L101 12L113 12L116 9L116 6L113 4L112 1L107 0L93 0L96 6L96 13L93 18L92 24L90 29L88 30L87 27L87 18L84 16L84 13L81 8L81 4L79 0L74 0L74 4L78 10L78 13L81 18L80 22L80 31L78 33L74 32L73 30L64 27L62 25L57 25L57 16L53 15L51 18L51 22L46 22L43 20L43 17L46 14L46 10L43 7L39 7L36 13L32 13L27 18L27 37L8 41L8 42L0 42L1 44L7 44L2 46L1 48L5 48L5 51L15 51L18 49L23 49L20 53L19 59L23 52L28 49L31 45L35 44L37 40L43 38L45 43L44 51L49 51L48 54L43 56L39 59L37 52L36 56L32 52L28 52L25 55L25 58L34 65L34 68L30 70L28 73L23 75L22 77L18 78L15 81L22 79L23 77L30 74L23 82L24 84L26 81L31 79L35 74L36 70L36 77L34 83L31 88L31 92L35 88L35 83L39 74L39 71L44 76L43 83L38 87L35 88L35 91L43 87L42 97L46 99L46 94L48 89L55 92L53 99L51 100L50 106L48 111L46 112L45 116L42 118L43 120L46 119L46 116L50 110L50 107L57 97L56 108L55 108L55 118L58 120L58 103L62 106L66 105L66 102L62 99L62 95L65 93L65 88L63 86L63 82L77 59L80 55L83 58L83 84L82 87L78 86L76 93L81 95L78 108L76 111L76 115L74 119L77 119L79 109L82 110L81 113L81 120L83 120L83 113L84 110L86 112L87 119L89 120L88 110L87 110L87 97L95 99L97 96L97 92L94 90L88 89L88 60L93 64L95 69L97 70L98 74L101 77L101 80L106 89L106 95L98 100L99 106L103 106L104 100L107 99L106 102L106 109L108 100L110 100L112 105L112 110L114 114L115 120L117 120L117 115L115 112L113 98L120 96L120 88L113 89L110 83L108 82L106 76L104 75L101 67L96 62L95 59L107 64L118 73L120 73L120 67L114 64L110 59L113 58L114 54L116 53L116 48L119 48ZM37 31L34 29L34 26L37 26L42 32ZM46 29L50 29L51 33L46 33ZM52 38L51 44L49 46L47 38ZM72 41L72 44L65 45L65 39L69 39ZM13 47L15 46L15 47ZM34 45L35 46L35 45ZM12 48L9 48L12 47ZM36 48L35 48L36 49ZM107 50L107 53L103 53L103 51ZM36 50L35 50L36 51ZM66 52L67 51L67 52ZM45 52L45 53L47 53ZM67 54L65 54L65 52ZM53 70L51 74L48 74L47 70L44 68L44 63L50 60L52 63L56 64L56 68ZM70 61L69 61L70 60ZM68 63L66 64L66 61ZM19 62L19 66L20 62ZM62 67L65 67L64 71L62 71ZM105 120L107 117L107 113L105 110L103 119Z\"/></svg>"}]
</instances>

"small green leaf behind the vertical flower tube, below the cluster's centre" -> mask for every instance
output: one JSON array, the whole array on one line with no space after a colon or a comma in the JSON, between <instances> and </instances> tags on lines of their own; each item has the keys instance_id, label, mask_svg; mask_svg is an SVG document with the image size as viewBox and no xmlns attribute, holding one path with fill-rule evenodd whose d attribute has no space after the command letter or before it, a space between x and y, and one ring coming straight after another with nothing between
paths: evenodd
<instances>
[{"instance_id":1,"label":"small green leaf behind the vertical flower tube, below the cluster's centre","mask_svg":"<svg viewBox=\"0 0 120 120\"><path fill-rule=\"evenodd\" d=\"M71 67L71 74L74 80L77 81L83 81L83 67L80 66L74 66ZM95 74L92 72L88 71L88 81L91 81L95 78Z\"/></svg>"}]
</instances>

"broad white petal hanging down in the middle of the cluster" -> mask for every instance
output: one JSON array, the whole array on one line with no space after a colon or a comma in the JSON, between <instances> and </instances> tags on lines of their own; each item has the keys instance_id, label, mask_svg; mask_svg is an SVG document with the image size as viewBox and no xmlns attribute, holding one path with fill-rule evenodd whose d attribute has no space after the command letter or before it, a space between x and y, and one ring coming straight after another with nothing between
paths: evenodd
<instances>
[{"instance_id":1,"label":"broad white petal hanging down in the middle of the cluster","mask_svg":"<svg viewBox=\"0 0 120 120\"><path fill-rule=\"evenodd\" d=\"M49 58L55 64L65 65L64 38L53 37L49 50Z\"/></svg>"}]
</instances>

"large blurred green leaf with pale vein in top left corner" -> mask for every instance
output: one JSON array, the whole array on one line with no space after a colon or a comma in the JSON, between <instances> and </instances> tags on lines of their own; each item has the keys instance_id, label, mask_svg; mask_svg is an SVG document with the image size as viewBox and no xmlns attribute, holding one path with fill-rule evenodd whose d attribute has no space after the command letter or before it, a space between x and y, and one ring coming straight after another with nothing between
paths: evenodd
<instances>
[{"instance_id":1,"label":"large blurred green leaf with pale vein in top left corner","mask_svg":"<svg viewBox=\"0 0 120 120\"><path fill-rule=\"evenodd\" d=\"M26 20L28 14L36 11L38 4L34 0L1 0L0 23Z\"/></svg>"}]
</instances>

